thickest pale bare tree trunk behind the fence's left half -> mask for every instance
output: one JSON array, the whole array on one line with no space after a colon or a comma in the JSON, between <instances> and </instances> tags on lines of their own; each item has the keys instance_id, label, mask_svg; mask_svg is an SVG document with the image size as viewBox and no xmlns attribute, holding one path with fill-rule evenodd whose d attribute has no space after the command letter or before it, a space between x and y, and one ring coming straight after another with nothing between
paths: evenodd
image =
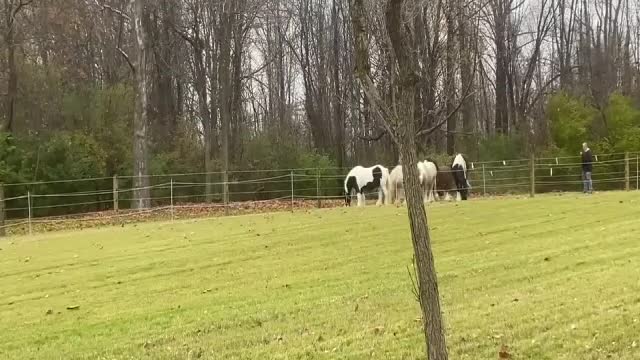
<instances>
[{"instance_id":1,"label":"thickest pale bare tree trunk behind the fence's left half","mask_svg":"<svg viewBox=\"0 0 640 360\"><path fill-rule=\"evenodd\" d=\"M136 209L148 208L151 204L148 177L147 144L147 31L144 25L146 0L135 0L134 32L136 37L136 101L133 120L133 192L132 206Z\"/></svg>"}]
</instances>

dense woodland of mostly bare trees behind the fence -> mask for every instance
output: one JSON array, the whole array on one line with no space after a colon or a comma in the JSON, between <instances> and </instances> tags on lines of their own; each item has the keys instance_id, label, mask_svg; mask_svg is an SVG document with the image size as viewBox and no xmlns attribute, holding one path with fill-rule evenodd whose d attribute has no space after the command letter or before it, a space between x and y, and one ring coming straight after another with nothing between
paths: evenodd
<instances>
[{"instance_id":1,"label":"dense woodland of mostly bare trees behind the fence","mask_svg":"<svg viewBox=\"0 0 640 360\"><path fill-rule=\"evenodd\" d=\"M3 1L0 182L393 164L353 1ZM392 104L383 3L364 1L365 66ZM637 0L407 3L420 153L640 150Z\"/></svg>"}]
</instances>

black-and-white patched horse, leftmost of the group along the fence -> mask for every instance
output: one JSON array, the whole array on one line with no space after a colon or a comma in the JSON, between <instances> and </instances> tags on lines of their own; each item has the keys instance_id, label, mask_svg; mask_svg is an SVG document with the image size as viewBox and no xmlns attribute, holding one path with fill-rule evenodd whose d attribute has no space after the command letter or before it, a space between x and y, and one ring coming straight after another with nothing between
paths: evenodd
<instances>
[{"instance_id":1,"label":"black-and-white patched horse, leftmost of the group along the fence","mask_svg":"<svg viewBox=\"0 0 640 360\"><path fill-rule=\"evenodd\" d=\"M351 197L355 192L358 197L358 206L365 206L365 192L378 190L378 201L376 205L382 205L384 198L385 204L389 204L389 196L387 193L387 182L389 181L389 169L382 165L374 165L372 167L356 166L344 179L345 205L351 206Z\"/></svg>"}]
</instances>

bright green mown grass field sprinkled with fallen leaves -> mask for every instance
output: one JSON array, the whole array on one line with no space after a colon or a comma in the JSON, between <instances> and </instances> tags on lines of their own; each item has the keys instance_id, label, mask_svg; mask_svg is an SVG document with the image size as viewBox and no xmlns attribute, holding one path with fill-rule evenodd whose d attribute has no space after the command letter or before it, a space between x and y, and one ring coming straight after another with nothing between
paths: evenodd
<instances>
[{"instance_id":1,"label":"bright green mown grass field sprinkled with fallen leaves","mask_svg":"<svg viewBox=\"0 0 640 360\"><path fill-rule=\"evenodd\" d=\"M435 204L429 221L451 359L640 358L640 193ZM0 248L0 359L424 358L404 208Z\"/></svg>"}]
</instances>

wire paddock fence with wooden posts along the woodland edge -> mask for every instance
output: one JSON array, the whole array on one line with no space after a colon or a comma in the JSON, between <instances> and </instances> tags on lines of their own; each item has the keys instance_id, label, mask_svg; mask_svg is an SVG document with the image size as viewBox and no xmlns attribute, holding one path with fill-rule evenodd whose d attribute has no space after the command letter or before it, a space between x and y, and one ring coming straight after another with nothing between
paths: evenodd
<instances>
[{"instance_id":1,"label":"wire paddock fence with wooden posts along the woodland edge","mask_svg":"<svg viewBox=\"0 0 640 360\"><path fill-rule=\"evenodd\" d=\"M594 156L596 191L640 190L640 152ZM389 167L390 170L392 166ZM73 223L124 224L275 210L343 205L344 177L351 168L234 170L0 184L0 236L55 229ZM533 157L467 164L475 197L582 191L580 156ZM453 190L453 189L440 189ZM134 209L134 194L150 206ZM376 194L367 194L369 200Z\"/></svg>"}]
</instances>

